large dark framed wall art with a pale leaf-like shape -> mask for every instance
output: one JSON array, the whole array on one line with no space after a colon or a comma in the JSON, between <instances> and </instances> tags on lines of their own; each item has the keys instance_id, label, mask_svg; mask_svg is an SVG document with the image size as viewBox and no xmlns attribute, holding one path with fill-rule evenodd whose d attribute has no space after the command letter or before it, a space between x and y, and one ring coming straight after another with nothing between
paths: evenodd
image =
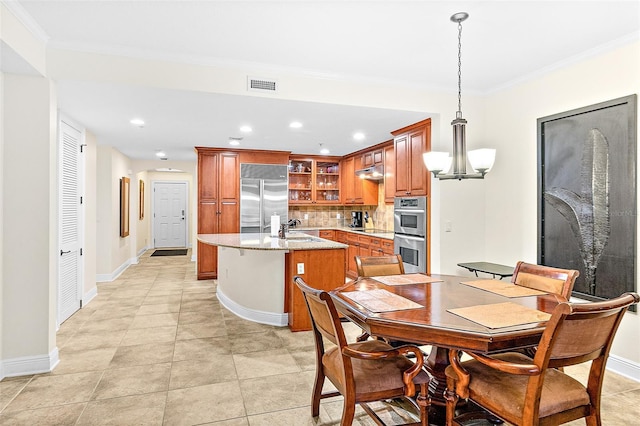
<instances>
[{"instance_id":1,"label":"large dark framed wall art with a pale leaf-like shape","mask_svg":"<svg viewBox=\"0 0 640 426\"><path fill-rule=\"evenodd\" d=\"M636 290L636 95L538 119L538 263L587 300Z\"/></svg>"}]
</instances>

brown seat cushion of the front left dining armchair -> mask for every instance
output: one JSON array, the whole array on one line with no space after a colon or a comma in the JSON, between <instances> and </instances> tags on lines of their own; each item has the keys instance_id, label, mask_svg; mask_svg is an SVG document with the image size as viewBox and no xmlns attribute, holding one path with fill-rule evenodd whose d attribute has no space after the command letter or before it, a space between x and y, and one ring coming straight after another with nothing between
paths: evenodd
<instances>
[{"instance_id":1,"label":"brown seat cushion of the front left dining armchair","mask_svg":"<svg viewBox=\"0 0 640 426\"><path fill-rule=\"evenodd\" d=\"M349 347L362 352L380 352L393 349L389 344L380 340L352 343ZM367 394L383 390L385 391L385 398L404 395L402 373L413 366L413 362L410 359L404 356L378 360L350 359L353 367L357 400L366 400L368 399ZM343 391L345 385L343 383L344 379L340 374L342 371L341 363L342 356L337 347L325 352L322 358L325 374L340 391ZM413 379L413 382L416 384L428 383L429 375L423 370ZM380 399L380 394L375 399Z\"/></svg>"}]
</instances>

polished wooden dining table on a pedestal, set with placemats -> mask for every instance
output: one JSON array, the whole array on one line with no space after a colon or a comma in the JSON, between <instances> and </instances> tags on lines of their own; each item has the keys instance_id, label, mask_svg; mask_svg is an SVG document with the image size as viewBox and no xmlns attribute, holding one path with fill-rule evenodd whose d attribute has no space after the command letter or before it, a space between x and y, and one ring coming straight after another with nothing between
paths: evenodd
<instances>
[{"instance_id":1,"label":"polished wooden dining table on a pedestal, set with placemats","mask_svg":"<svg viewBox=\"0 0 640 426\"><path fill-rule=\"evenodd\" d=\"M359 278L330 292L370 336L430 345L432 404L444 406L450 350L492 354L533 347L562 296L495 279L403 274Z\"/></svg>"}]
</instances>

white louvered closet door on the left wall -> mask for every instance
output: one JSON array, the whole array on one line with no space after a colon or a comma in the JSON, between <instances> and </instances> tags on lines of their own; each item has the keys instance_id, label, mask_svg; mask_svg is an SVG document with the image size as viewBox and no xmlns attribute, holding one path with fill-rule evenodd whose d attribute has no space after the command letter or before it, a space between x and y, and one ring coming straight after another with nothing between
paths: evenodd
<instances>
[{"instance_id":1,"label":"white louvered closet door on the left wall","mask_svg":"<svg viewBox=\"0 0 640 426\"><path fill-rule=\"evenodd\" d=\"M82 133L60 122L60 262L58 324L80 309L81 294L81 157Z\"/></svg>"}]
</instances>

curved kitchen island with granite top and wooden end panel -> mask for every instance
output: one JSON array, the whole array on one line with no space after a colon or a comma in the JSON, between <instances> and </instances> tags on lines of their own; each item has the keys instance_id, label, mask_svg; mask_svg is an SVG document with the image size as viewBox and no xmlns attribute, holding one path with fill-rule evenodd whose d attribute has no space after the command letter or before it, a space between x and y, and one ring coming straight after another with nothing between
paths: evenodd
<instances>
[{"instance_id":1,"label":"curved kitchen island with granite top and wooden end panel","mask_svg":"<svg viewBox=\"0 0 640 426\"><path fill-rule=\"evenodd\" d=\"M304 233L284 239L258 233L199 234L198 241L218 247L218 300L251 321L310 330L293 277L300 275L323 290L345 282L346 244Z\"/></svg>"}]
</instances>

